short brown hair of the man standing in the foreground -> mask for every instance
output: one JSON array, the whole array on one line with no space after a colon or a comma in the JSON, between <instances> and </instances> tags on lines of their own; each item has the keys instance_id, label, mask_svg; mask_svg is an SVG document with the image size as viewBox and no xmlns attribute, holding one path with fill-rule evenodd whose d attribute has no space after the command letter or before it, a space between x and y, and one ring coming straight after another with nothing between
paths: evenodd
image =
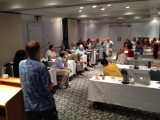
<instances>
[{"instance_id":1,"label":"short brown hair of the man standing in the foreground","mask_svg":"<svg viewBox=\"0 0 160 120\"><path fill-rule=\"evenodd\" d=\"M40 50L40 44L37 41L29 41L26 44L26 53L30 58L34 58L34 56L39 50Z\"/></svg>"}]
</instances>

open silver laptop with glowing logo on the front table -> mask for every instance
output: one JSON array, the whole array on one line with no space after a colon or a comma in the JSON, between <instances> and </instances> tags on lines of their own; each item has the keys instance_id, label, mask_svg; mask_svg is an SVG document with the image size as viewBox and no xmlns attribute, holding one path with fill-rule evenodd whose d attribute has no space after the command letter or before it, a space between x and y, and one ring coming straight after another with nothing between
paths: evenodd
<instances>
[{"instance_id":1,"label":"open silver laptop with glowing logo on the front table","mask_svg":"<svg viewBox=\"0 0 160 120\"><path fill-rule=\"evenodd\" d=\"M146 73L134 72L134 82L143 85L150 85L150 75Z\"/></svg>"}]
</instances>

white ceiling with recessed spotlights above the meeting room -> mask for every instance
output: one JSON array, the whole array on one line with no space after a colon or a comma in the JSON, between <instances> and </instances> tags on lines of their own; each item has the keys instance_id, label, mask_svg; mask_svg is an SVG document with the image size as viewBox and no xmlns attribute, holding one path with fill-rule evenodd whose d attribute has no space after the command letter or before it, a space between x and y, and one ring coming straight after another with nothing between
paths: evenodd
<instances>
[{"instance_id":1,"label":"white ceiling with recessed spotlights above the meeting room","mask_svg":"<svg viewBox=\"0 0 160 120\"><path fill-rule=\"evenodd\" d=\"M84 9L79 13L81 6ZM160 0L0 0L0 11L93 20L144 20L158 16Z\"/></svg>"}]
</instances>

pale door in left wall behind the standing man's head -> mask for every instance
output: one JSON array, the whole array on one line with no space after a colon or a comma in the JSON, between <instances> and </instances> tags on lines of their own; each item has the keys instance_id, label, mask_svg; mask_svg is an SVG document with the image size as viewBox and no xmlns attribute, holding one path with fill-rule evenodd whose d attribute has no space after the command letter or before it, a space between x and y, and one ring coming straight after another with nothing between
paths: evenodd
<instances>
[{"instance_id":1,"label":"pale door in left wall behind the standing man's head","mask_svg":"<svg viewBox=\"0 0 160 120\"><path fill-rule=\"evenodd\" d=\"M41 55L44 57L44 27L42 23L28 23L28 39L36 40L41 46Z\"/></svg>"}]
</instances>

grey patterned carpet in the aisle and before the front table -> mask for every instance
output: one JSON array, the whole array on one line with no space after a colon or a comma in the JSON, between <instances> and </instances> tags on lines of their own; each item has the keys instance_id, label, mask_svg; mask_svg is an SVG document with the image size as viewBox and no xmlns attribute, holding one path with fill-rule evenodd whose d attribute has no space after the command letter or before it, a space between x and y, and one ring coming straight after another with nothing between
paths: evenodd
<instances>
[{"instance_id":1,"label":"grey patterned carpet in the aisle and before the front table","mask_svg":"<svg viewBox=\"0 0 160 120\"><path fill-rule=\"evenodd\" d=\"M97 65L82 77L75 77L70 88L59 89L55 94L59 120L160 120L160 114L144 112L109 104L96 104L87 100L88 80L101 74Z\"/></svg>"}]
</instances>

